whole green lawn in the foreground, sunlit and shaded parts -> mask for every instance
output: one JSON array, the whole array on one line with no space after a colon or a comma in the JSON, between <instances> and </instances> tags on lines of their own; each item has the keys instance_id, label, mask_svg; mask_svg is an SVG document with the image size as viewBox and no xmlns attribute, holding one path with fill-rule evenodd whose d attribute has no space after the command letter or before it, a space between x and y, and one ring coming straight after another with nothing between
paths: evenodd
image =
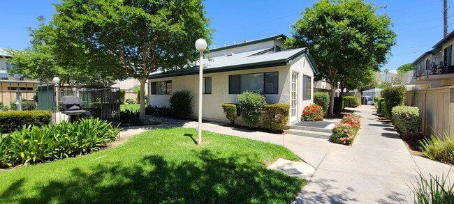
<instances>
[{"instance_id":1,"label":"whole green lawn in the foreground, sunlit and shaded parts","mask_svg":"<svg viewBox=\"0 0 454 204\"><path fill-rule=\"evenodd\" d=\"M121 146L0 173L0 203L290 203L305 180L267 170L281 146L194 129L151 130Z\"/></svg>"}]
</instances>

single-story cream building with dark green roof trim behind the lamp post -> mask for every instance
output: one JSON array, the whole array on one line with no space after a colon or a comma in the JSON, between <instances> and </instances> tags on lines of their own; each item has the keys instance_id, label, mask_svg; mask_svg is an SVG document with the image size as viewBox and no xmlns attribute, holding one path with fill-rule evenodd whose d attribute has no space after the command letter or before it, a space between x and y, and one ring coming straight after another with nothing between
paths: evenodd
<instances>
[{"instance_id":1,"label":"single-story cream building with dark green roof trim behind the lamp post","mask_svg":"<svg viewBox=\"0 0 454 204\"><path fill-rule=\"evenodd\" d=\"M237 103L243 91L260 91L268 104L290 104L287 125L300 121L302 109L313 103L318 70L307 48L286 50L278 35L210 49L203 62L203 118L227 121L222 104ZM149 106L168 106L173 91L193 95L198 113L198 65L149 76Z\"/></svg>"}]
</instances>

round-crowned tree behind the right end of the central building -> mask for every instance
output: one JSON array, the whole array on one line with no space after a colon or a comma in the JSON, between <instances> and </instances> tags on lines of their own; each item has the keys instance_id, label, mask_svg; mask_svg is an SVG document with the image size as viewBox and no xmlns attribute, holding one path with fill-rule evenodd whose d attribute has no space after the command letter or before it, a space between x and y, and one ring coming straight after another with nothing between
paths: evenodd
<instances>
[{"instance_id":1,"label":"round-crowned tree behind the right end of the central building","mask_svg":"<svg viewBox=\"0 0 454 204\"><path fill-rule=\"evenodd\" d=\"M335 84L378 71L396 43L390 18L376 14L379 8L362 0L321 0L306 8L292 25L293 36L286 45L309 48L321 72L316 79L332 85L330 114Z\"/></svg>"}]
</instances>

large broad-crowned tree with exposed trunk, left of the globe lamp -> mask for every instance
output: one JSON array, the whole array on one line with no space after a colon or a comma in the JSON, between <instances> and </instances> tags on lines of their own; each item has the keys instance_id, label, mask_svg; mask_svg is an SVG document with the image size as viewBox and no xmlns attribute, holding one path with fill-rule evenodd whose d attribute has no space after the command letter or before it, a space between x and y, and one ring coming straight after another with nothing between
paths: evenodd
<instances>
[{"instance_id":1,"label":"large broad-crowned tree with exposed trunk, left of the globe lamp","mask_svg":"<svg viewBox=\"0 0 454 204\"><path fill-rule=\"evenodd\" d=\"M140 118L145 119L145 82L158 68L187 68L196 61L194 42L211 40L203 0L62 0L50 22L54 45L66 61L84 56L91 66L140 81Z\"/></svg>"}]
</instances>

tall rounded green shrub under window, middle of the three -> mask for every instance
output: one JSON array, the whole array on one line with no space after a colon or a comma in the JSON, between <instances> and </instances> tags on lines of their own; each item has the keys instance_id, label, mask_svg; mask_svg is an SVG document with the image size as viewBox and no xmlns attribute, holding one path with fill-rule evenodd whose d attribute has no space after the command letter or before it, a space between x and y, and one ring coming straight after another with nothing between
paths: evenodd
<instances>
[{"instance_id":1,"label":"tall rounded green shrub under window, middle of the three","mask_svg":"<svg viewBox=\"0 0 454 204\"><path fill-rule=\"evenodd\" d=\"M260 123L265 96L260 93L244 91L238 95L238 107L244 123L251 127L257 127Z\"/></svg>"}]
</instances>

